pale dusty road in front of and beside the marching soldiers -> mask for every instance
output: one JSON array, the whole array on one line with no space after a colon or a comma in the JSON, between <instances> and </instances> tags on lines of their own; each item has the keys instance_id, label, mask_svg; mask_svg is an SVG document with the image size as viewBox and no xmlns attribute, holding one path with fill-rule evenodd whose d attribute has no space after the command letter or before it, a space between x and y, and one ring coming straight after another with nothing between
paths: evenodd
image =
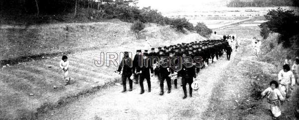
<instances>
[{"instance_id":1,"label":"pale dusty road in front of and beside the marching soldiers","mask_svg":"<svg viewBox=\"0 0 299 120\"><path fill-rule=\"evenodd\" d=\"M231 61L233 58L234 53ZM192 98L188 96L183 100L182 88L174 89L173 85L170 94L159 96L159 84L156 78L152 78L150 93L140 95L140 86L136 84L132 92L126 93L121 93L122 86L112 86L50 111L39 120L200 120L209 105L215 83L221 79L231 61L223 56L216 63L202 69L197 76L200 88L193 92ZM146 82L144 84L147 86Z\"/></svg>"}]
</instances>

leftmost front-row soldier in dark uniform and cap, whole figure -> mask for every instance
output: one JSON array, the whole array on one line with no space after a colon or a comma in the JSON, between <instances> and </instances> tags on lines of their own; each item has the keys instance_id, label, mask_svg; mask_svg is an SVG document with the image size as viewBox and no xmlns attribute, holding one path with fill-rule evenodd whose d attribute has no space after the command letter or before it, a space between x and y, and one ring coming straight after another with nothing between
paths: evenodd
<instances>
[{"instance_id":1,"label":"leftmost front-row soldier in dark uniform and cap, whole figure","mask_svg":"<svg viewBox=\"0 0 299 120\"><path fill-rule=\"evenodd\" d=\"M125 53L125 56L117 70L117 72L119 72L119 74L120 74L122 71L122 68L123 68L122 81L123 81L124 89L122 92L127 91L127 85L126 85L127 78L129 79L129 86L130 86L129 91L132 91L132 88L133 88L133 81L130 79L130 77L132 76L132 66L133 66L132 59L129 57L129 53L127 51L124 53Z\"/></svg>"}]
</instances>

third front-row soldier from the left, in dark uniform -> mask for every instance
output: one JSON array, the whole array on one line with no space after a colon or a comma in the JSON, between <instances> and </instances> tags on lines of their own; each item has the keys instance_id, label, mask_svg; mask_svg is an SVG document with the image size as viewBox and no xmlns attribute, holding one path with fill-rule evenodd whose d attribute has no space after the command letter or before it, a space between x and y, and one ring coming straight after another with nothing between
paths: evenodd
<instances>
[{"instance_id":1,"label":"third front-row soldier from the left, in dark uniform","mask_svg":"<svg viewBox=\"0 0 299 120\"><path fill-rule=\"evenodd\" d=\"M164 80L166 80L167 86L168 86L168 91L167 93L170 93L171 90L171 79L169 77L171 71L170 68L167 67L168 61L167 61L167 56L162 53L160 54L160 61L159 61L159 67L155 68L154 72L157 75L159 81L160 81L160 94L164 94Z\"/></svg>"}]
</instances>

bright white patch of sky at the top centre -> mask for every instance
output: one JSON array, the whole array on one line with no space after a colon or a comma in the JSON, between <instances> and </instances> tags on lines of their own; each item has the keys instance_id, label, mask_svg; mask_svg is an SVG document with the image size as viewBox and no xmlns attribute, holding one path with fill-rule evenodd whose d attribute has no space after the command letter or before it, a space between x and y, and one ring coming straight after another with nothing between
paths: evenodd
<instances>
[{"instance_id":1,"label":"bright white patch of sky at the top centre","mask_svg":"<svg viewBox=\"0 0 299 120\"><path fill-rule=\"evenodd\" d=\"M151 6L160 12L189 11L225 6L229 0L139 0L138 6Z\"/></svg>"}]
</instances>

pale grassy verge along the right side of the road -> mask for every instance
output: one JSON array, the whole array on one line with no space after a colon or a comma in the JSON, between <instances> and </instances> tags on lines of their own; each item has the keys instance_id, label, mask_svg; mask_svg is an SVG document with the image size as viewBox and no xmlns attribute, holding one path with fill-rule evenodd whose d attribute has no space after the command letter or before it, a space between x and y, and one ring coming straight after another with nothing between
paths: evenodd
<instances>
[{"instance_id":1,"label":"pale grassy verge along the right side of the road","mask_svg":"<svg viewBox=\"0 0 299 120\"><path fill-rule=\"evenodd\" d=\"M252 20L254 22L254 20ZM241 23L240 23L241 24ZM249 28L249 29L247 29ZM267 40L262 40L261 54L256 57L253 47L250 46L254 35L259 39L258 27L234 26L225 29L216 29L218 34L237 34L237 39L245 38L248 43L240 42L239 53L241 60L234 64L231 69L238 70L237 73L228 73L213 91L209 111L206 111L206 120L272 120L267 101L261 100L261 92L270 85L272 80L277 80L277 74L282 69L286 55L294 57L295 52L283 49L276 42L276 35L271 34ZM275 47L270 46L273 43ZM241 46L247 46L242 48ZM295 58L295 57L294 57ZM228 68L230 69L230 68ZM237 76L234 79L232 76ZM239 76L243 76L239 78ZM223 82L224 81L224 82ZM233 85L231 85L233 84ZM236 87L237 86L237 87ZM239 95L230 95L231 91ZM298 87L293 91L290 102L285 103L280 120L293 120L298 116L299 100Z\"/></svg>"}]
</instances>

